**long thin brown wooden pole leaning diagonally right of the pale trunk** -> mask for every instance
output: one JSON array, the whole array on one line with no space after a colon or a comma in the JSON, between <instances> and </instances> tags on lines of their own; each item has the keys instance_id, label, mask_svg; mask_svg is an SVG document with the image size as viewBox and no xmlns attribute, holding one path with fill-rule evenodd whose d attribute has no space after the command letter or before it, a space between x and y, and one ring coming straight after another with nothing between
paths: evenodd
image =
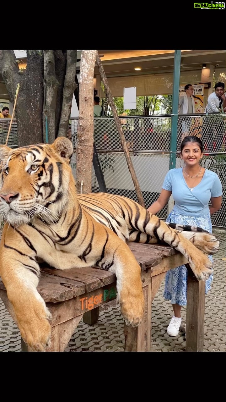
<instances>
[{"instance_id":1,"label":"long thin brown wooden pole leaning diagonally right of the pale trunk","mask_svg":"<svg viewBox=\"0 0 226 402\"><path fill-rule=\"evenodd\" d=\"M130 153L129 153L129 150L128 150L128 147L127 147L127 144L126 144L126 139L125 139L124 133L122 131L122 127L120 125L120 120L118 118L118 114L117 114L116 107L115 107L115 104L114 104L114 99L113 99L113 96L111 94L110 88L108 86L107 77L105 75L104 68L102 66L100 56L98 54L96 56L96 62L98 64L98 68L99 68L99 71L100 71L100 76L101 76L102 81L104 83L104 87L105 87L105 89L107 91L109 103L110 103L110 106L112 108L112 113L113 113L113 116L114 116L114 121L115 121L116 127L118 129L118 134L119 134L120 141L121 141L121 144L122 144L122 149L123 149L124 155L126 157L126 162L127 162L127 165L128 165L128 169L129 169L129 172L131 174L131 178L132 178L134 188L135 188L135 191L136 191L136 195L137 195L137 198L138 198L138 203L142 207L146 208L145 207L145 201L143 199L143 195L142 195L141 190L140 190L140 185L139 185L137 177L136 177L136 172L134 170L132 160L130 158Z\"/></svg>"}]
</instances>

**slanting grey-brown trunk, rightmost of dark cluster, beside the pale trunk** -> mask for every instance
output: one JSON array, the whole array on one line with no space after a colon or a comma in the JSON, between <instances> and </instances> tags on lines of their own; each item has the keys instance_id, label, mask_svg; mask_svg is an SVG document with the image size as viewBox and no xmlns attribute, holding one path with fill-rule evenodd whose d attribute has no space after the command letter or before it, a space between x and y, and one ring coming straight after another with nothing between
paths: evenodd
<instances>
[{"instance_id":1,"label":"slanting grey-brown trunk, rightmost of dark cluster, beside the pale trunk","mask_svg":"<svg viewBox=\"0 0 226 402\"><path fill-rule=\"evenodd\" d=\"M67 69L63 87L63 103L59 123L58 137L66 137L71 114L73 93L76 87L77 50L67 50Z\"/></svg>"}]
</instances>

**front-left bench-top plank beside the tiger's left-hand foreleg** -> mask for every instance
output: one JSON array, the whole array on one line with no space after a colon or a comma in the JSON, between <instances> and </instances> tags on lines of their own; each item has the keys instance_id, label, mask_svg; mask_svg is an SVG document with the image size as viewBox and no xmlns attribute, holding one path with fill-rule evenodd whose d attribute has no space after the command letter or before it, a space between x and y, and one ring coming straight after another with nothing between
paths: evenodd
<instances>
[{"instance_id":1,"label":"front-left bench-top plank beside the tiger's left-hand foreleg","mask_svg":"<svg viewBox=\"0 0 226 402\"><path fill-rule=\"evenodd\" d=\"M42 273L37 290L45 302L56 303L85 293L85 285L73 279Z\"/></svg>"}]
</instances>

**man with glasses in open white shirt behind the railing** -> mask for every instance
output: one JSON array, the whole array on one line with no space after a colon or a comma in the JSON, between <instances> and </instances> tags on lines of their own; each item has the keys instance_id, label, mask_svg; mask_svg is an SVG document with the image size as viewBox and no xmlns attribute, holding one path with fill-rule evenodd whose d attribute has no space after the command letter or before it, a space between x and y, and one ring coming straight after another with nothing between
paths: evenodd
<instances>
[{"instance_id":1,"label":"man with glasses in open white shirt behind the railing","mask_svg":"<svg viewBox=\"0 0 226 402\"><path fill-rule=\"evenodd\" d=\"M178 114L193 114L195 113L195 101L193 98L193 85L187 84L184 87L184 92L179 96ZM184 137L189 135L191 126L191 117L179 117L178 119L178 131L181 131L181 141Z\"/></svg>"}]
</instances>

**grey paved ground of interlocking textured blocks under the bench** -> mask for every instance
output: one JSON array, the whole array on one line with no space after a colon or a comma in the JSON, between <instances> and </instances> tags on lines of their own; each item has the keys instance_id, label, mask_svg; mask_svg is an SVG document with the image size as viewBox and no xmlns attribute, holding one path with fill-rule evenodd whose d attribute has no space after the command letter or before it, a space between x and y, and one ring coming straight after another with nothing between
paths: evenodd
<instances>
[{"instance_id":1,"label":"grey paved ground of interlocking textured blocks under the bench","mask_svg":"<svg viewBox=\"0 0 226 402\"><path fill-rule=\"evenodd\" d=\"M214 231L220 238L220 251L214 257L214 281L206 295L204 351L226 351L226 231ZM185 332L169 336L166 332L172 317L171 304L162 297L164 283L152 304L153 351L185 350ZM123 318L115 301L102 306L98 323L81 321L73 334L66 352L122 352L124 348ZM182 328L186 322L183 310ZM20 332L0 299L0 352L20 352Z\"/></svg>"}]
</instances>

